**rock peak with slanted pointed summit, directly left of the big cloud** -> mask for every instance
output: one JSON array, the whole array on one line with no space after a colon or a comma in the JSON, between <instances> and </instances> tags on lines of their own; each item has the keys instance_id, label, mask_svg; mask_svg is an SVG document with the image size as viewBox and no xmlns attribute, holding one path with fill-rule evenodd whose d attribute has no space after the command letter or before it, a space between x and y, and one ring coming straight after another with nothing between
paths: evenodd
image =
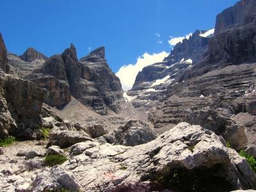
<instances>
[{"instance_id":1,"label":"rock peak with slanted pointed summit, directly left of the big cloud","mask_svg":"<svg viewBox=\"0 0 256 192\"><path fill-rule=\"evenodd\" d=\"M106 107L117 113L120 111L120 99L123 98L122 85L109 68L104 50L104 47L100 47L79 60L83 79L80 100L100 114L106 114Z\"/></svg>"}]
</instances>

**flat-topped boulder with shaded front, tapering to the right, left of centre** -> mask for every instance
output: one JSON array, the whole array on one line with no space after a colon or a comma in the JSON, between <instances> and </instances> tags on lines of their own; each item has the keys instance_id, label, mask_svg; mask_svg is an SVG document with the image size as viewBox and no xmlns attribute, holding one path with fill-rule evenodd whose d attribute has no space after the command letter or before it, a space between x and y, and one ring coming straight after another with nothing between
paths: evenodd
<instances>
[{"instance_id":1,"label":"flat-topped boulder with shaded front, tapering to the right, left of centre","mask_svg":"<svg viewBox=\"0 0 256 192\"><path fill-rule=\"evenodd\" d=\"M83 131L69 131L54 128L49 133L49 146L58 145L61 148L65 148L82 141L92 141L92 138Z\"/></svg>"}]
</instances>

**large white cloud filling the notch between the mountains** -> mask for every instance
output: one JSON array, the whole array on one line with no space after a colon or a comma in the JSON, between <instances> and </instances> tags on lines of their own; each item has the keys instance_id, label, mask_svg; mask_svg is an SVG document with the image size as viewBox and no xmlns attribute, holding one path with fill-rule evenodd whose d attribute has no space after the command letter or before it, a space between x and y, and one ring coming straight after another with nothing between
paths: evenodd
<instances>
[{"instance_id":1,"label":"large white cloud filling the notch between the mountains","mask_svg":"<svg viewBox=\"0 0 256 192\"><path fill-rule=\"evenodd\" d=\"M140 72L143 67L161 62L166 56L168 56L168 53L165 51L154 54L148 54L145 52L143 56L140 56L137 59L135 64L122 66L118 72L116 72L116 76L119 77L123 90L127 91L132 88L138 72Z\"/></svg>"}]
</instances>

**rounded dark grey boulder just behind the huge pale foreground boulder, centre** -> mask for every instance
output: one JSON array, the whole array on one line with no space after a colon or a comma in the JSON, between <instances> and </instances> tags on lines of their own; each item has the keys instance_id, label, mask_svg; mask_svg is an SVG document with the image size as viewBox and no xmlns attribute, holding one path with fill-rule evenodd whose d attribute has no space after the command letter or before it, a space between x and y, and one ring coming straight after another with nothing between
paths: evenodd
<instances>
[{"instance_id":1,"label":"rounded dark grey boulder just behind the huge pale foreground boulder, centre","mask_svg":"<svg viewBox=\"0 0 256 192\"><path fill-rule=\"evenodd\" d=\"M129 120L114 131L115 144L135 146L156 139L157 134L141 120Z\"/></svg>"}]
</instances>

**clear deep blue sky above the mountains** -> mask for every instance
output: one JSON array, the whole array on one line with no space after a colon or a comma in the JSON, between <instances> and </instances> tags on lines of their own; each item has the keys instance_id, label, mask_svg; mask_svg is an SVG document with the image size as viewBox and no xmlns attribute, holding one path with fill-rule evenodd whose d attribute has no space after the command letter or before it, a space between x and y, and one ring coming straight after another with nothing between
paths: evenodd
<instances>
[{"instance_id":1,"label":"clear deep blue sky above the mountains","mask_svg":"<svg viewBox=\"0 0 256 192\"><path fill-rule=\"evenodd\" d=\"M104 45L114 72L145 52L170 52L170 36L214 28L237 0L1 0L0 31L8 51L35 47L46 56L72 42L79 58ZM156 35L159 34L159 35ZM163 42L163 43L159 43Z\"/></svg>"}]
</instances>

